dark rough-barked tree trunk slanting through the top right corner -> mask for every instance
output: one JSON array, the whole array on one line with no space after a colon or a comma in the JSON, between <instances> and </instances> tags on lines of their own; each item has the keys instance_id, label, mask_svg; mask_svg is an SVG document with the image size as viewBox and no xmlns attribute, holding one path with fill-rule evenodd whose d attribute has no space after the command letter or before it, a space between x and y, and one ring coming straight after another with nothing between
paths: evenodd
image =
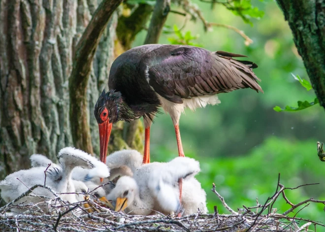
<instances>
[{"instance_id":1,"label":"dark rough-barked tree trunk slanting through the top right corner","mask_svg":"<svg viewBox=\"0 0 325 232\"><path fill-rule=\"evenodd\" d=\"M325 108L325 0L277 0L292 30L320 104Z\"/></svg>"}]
</instances>

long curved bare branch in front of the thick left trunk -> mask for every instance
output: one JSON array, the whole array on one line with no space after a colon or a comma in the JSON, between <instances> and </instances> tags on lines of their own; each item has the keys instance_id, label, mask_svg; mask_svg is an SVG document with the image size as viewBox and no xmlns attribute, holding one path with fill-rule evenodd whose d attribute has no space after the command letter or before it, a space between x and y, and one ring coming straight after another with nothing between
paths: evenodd
<instances>
[{"instance_id":1,"label":"long curved bare branch in front of the thick left trunk","mask_svg":"<svg viewBox=\"0 0 325 232\"><path fill-rule=\"evenodd\" d=\"M74 145L88 153L93 153L87 111L89 74L100 36L121 2L122 0L103 0L99 4L75 49L69 79L71 131Z\"/></svg>"}]
</instances>

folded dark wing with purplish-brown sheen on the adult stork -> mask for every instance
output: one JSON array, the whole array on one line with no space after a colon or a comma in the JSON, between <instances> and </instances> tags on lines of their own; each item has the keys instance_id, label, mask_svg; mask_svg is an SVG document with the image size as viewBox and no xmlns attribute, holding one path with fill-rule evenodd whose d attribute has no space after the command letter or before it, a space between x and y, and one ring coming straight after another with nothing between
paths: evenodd
<instances>
[{"instance_id":1,"label":"folded dark wing with purplish-brown sheen on the adult stork","mask_svg":"<svg viewBox=\"0 0 325 232\"><path fill-rule=\"evenodd\" d=\"M142 68L149 84L163 98L175 103L203 95L251 88L262 91L252 68L256 64L238 61L242 55L210 52L192 46L165 45L148 53Z\"/></svg>"}]
</instances>

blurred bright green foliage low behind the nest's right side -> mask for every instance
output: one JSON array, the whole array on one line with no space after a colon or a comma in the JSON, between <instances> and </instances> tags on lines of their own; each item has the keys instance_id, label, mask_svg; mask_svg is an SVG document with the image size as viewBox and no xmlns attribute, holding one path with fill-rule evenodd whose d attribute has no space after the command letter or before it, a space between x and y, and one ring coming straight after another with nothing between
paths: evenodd
<instances>
[{"instance_id":1,"label":"blurred bright green foliage low behind the nest's right side","mask_svg":"<svg viewBox=\"0 0 325 232\"><path fill-rule=\"evenodd\" d=\"M155 161L166 162L173 159L175 155L175 152L162 146L155 149L153 158ZM276 189L278 173L281 174L280 183L286 187L321 183L286 191L286 195L292 203L298 203L311 197L314 199L325 198L323 191L325 166L317 157L314 140L301 142L269 137L246 155L204 158L189 152L186 153L186 156L200 161L201 172L197 175L197 179L207 193L207 207L210 212L213 212L213 206L217 205L220 213L229 213L212 193L212 183L216 184L216 190L225 198L227 204L236 210L242 208L242 205L256 205L256 198L260 203L264 203L267 197L271 197ZM303 206L290 215L295 215ZM277 208L279 213L283 213L290 208L290 205L279 197L273 207ZM323 204L311 203L296 217L323 221L323 207Z\"/></svg>"}]
</instances>

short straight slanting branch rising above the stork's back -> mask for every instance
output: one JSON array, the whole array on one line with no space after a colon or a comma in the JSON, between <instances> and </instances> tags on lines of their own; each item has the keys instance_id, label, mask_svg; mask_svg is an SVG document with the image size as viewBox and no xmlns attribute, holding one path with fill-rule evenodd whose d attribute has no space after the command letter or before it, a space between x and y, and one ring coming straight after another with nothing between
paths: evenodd
<instances>
[{"instance_id":1,"label":"short straight slanting branch rising above the stork's back","mask_svg":"<svg viewBox=\"0 0 325 232\"><path fill-rule=\"evenodd\" d=\"M144 44L158 43L162 27L170 11L170 0L157 0L151 16L150 26Z\"/></svg>"}]
</instances>

